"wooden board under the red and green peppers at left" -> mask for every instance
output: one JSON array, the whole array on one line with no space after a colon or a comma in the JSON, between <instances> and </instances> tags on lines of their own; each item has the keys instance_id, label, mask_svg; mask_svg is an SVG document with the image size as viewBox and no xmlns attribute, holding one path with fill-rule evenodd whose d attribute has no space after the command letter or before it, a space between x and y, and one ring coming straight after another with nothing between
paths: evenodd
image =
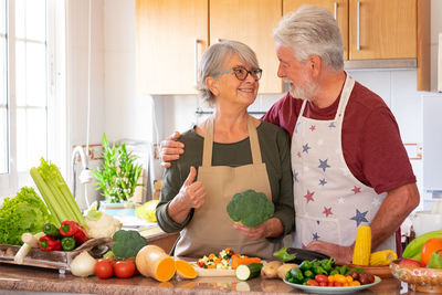
<instances>
[{"instance_id":1,"label":"wooden board under the red and green peppers at left","mask_svg":"<svg viewBox=\"0 0 442 295\"><path fill-rule=\"evenodd\" d=\"M76 255L86 250L94 256L95 251L104 250L113 243L109 238L91 239L73 251L50 251L43 252L40 249L32 249L24 257L22 265L38 266L43 268L70 271L71 262ZM17 264L15 253L20 250L19 245L0 244L0 263Z\"/></svg>"}]
</instances>

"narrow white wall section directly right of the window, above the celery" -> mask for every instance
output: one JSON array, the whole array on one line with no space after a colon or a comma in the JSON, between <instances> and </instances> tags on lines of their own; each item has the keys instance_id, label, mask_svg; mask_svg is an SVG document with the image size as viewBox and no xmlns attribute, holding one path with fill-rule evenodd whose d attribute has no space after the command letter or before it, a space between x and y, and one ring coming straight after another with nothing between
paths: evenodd
<instances>
[{"instance_id":1,"label":"narrow white wall section directly right of the window, above the celery","mask_svg":"<svg viewBox=\"0 0 442 295\"><path fill-rule=\"evenodd\" d=\"M92 67L90 143L98 143L104 130L103 0L92 1ZM88 0L66 2L66 87L69 146L86 144Z\"/></svg>"}]
</instances>

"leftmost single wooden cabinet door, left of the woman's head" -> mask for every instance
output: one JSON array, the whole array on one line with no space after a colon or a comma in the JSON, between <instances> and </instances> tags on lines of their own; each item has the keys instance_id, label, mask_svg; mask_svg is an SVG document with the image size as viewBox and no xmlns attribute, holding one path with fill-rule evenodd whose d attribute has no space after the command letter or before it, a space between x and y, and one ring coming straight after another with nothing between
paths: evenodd
<instances>
[{"instance_id":1,"label":"leftmost single wooden cabinet door, left of the woman's head","mask_svg":"<svg viewBox=\"0 0 442 295\"><path fill-rule=\"evenodd\" d=\"M137 0L137 92L194 93L208 45L208 0Z\"/></svg>"}]
</instances>

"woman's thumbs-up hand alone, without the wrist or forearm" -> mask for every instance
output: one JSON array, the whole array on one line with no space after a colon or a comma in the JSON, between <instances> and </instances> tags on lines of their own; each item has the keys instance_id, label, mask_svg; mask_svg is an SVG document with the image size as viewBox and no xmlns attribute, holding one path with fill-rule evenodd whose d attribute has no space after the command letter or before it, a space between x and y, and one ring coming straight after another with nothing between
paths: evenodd
<instances>
[{"instance_id":1,"label":"woman's thumbs-up hand alone, without the wrist or forearm","mask_svg":"<svg viewBox=\"0 0 442 295\"><path fill-rule=\"evenodd\" d=\"M180 198L189 209L201 208L206 201L206 188L200 181L194 181L196 177L197 169L192 166L179 192Z\"/></svg>"}]
</instances>

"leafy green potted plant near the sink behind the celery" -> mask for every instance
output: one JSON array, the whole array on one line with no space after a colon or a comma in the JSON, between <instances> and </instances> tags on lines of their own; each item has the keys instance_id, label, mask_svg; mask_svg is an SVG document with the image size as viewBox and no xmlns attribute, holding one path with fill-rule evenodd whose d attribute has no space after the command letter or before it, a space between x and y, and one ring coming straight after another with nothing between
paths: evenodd
<instances>
[{"instance_id":1,"label":"leafy green potted plant near the sink behind the celery","mask_svg":"<svg viewBox=\"0 0 442 295\"><path fill-rule=\"evenodd\" d=\"M127 151L125 143L110 147L106 134L103 134L102 144L103 165L92 170L98 180L94 185L110 203L127 201L134 196L135 188L143 186L138 183L143 166L136 164L138 157Z\"/></svg>"}]
</instances>

